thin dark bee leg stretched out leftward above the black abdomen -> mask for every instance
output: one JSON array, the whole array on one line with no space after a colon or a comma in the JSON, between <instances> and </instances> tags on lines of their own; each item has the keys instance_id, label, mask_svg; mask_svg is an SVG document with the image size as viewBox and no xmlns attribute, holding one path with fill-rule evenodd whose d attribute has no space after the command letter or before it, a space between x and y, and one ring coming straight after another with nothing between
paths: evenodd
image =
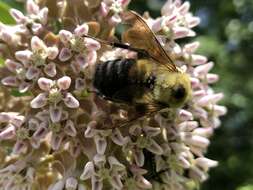
<instances>
[{"instance_id":1,"label":"thin dark bee leg stretched out leftward above the black abdomen","mask_svg":"<svg viewBox=\"0 0 253 190\"><path fill-rule=\"evenodd\" d=\"M150 58L149 53L144 49L134 48L134 47L131 47L130 45L123 44L123 43L101 40L101 39L98 39L98 38L95 38L95 37L89 36L89 35L84 35L84 37L92 38L92 39L98 41L101 44L105 44L105 45L109 45L109 46L112 46L112 47L117 47L117 48L122 48L122 49L127 49L127 50L130 50L130 51L134 51L134 52L137 53L138 58Z\"/></svg>"}]
</instances>

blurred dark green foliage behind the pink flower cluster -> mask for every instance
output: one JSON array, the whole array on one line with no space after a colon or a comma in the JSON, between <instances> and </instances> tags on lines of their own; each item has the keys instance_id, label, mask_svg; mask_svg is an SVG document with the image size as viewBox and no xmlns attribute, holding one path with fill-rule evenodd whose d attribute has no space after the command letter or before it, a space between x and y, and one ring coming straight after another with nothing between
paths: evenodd
<instances>
[{"instance_id":1,"label":"blurred dark green foliage behind the pink flower cluster","mask_svg":"<svg viewBox=\"0 0 253 190\"><path fill-rule=\"evenodd\" d=\"M219 161L203 190L253 190L253 0L190 0L202 20L199 53L216 63L228 114L216 130L208 157ZM165 0L132 0L130 9L159 16ZM13 23L8 8L22 9L14 0L0 0L0 21Z\"/></svg>"}]
</instances>

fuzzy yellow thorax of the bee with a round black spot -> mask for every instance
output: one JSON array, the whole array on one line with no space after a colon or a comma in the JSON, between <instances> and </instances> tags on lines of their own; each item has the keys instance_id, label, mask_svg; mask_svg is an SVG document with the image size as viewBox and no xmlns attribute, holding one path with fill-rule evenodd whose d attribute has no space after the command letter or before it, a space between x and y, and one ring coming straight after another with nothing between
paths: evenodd
<instances>
[{"instance_id":1,"label":"fuzzy yellow thorax of the bee with a round black spot","mask_svg":"<svg viewBox=\"0 0 253 190\"><path fill-rule=\"evenodd\" d=\"M184 105L191 94L190 79L185 73L164 73L157 76L155 100L171 108Z\"/></svg>"}]
</instances>

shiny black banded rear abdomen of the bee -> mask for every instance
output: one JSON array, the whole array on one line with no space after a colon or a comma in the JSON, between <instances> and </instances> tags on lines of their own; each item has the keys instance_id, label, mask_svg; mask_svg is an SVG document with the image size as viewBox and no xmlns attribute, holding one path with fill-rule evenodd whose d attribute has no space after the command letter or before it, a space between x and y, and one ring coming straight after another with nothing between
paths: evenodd
<instances>
[{"instance_id":1,"label":"shiny black banded rear abdomen of the bee","mask_svg":"<svg viewBox=\"0 0 253 190\"><path fill-rule=\"evenodd\" d=\"M106 97L130 85L129 69L136 63L135 59L116 59L100 63L96 67L94 87Z\"/></svg>"}]
</instances>

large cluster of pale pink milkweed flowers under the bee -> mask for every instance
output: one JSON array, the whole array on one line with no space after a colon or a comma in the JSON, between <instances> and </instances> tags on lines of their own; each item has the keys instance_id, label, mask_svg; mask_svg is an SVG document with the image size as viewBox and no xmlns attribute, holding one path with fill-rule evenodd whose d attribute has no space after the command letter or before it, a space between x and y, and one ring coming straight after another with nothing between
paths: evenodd
<instances>
[{"instance_id":1,"label":"large cluster of pale pink milkweed flowers under the bee","mask_svg":"<svg viewBox=\"0 0 253 190\"><path fill-rule=\"evenodd\" d=\"M128 108L90 93L99 60L134 57L103 47L113 39L129 0L27 0L0 24L0 187L2 189L185 190L217 162L204 157L226 108L211 84L218 75L196 54L199 18L190 4L168 0L161 17L145 15L175 64L191 77L192 98L129 126ZM113 127L112 127L113 126Z\"/></svg>"}]
</instances>

